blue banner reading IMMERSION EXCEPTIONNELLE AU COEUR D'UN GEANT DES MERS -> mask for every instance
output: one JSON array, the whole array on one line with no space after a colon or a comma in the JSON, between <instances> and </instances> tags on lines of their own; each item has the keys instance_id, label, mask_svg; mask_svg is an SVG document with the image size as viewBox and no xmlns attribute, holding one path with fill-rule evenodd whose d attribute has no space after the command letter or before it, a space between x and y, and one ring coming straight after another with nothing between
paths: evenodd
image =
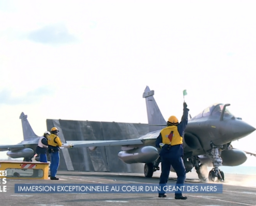
<instances>
[{"instance_id":1,"label":"blue banner reading IMMERSION EXCEPTIONNELLE AU COEUR D'UN GEANT DES MERS","mask_svg":"<svg viewBox=\"0 0 256 206\"><path fill-rule=\"evenodd\" d=\"M15 193L222 193L222 184L15 184Z\"/></svg>"}]
</instances>

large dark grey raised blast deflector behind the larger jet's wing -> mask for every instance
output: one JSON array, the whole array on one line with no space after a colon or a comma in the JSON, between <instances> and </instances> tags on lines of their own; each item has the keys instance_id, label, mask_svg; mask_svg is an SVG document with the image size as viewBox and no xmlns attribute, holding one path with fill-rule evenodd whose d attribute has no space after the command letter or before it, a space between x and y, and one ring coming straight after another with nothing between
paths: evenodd
<instances>
[{"instance_id":1,"label":"large dark grey raised blast deflector behind the larger jet's wing","mask_svg":"<svg viewBox=\"0 0 256 206\"><path fill-rule=\"evenodd\" d=\"M148 133L147 124L59 119L59 125L54 125L54 121L54 119L47 119L47 129L61 128L65 141L129 140ZM61 150L59 170L67 170L67 165L72 164L76 171L143 173L144 164L124 163L118 158L119 151L121 151L121 146L97 147L94 151L87 147L70 148L68 153L71 162L69 162Z\"/></svg>"}]
</instances>

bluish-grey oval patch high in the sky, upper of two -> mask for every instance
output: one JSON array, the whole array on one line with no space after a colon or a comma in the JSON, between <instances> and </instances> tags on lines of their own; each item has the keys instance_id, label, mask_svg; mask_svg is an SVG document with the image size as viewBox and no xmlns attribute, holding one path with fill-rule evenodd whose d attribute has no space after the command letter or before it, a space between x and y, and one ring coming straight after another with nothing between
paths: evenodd
<instances>
[{"instance_id":1,"label":"bluish-grey oval patch high in the sky, upper of two","mask_svg":"<svg viewBox=\"0 0 256 206\"><path fill-rule=\"evenodd\" d=\"M48 25L32 31L29 33L28 39L42 44L65 44L77 40L62 24Z\"/></svg>"}]
</instances>

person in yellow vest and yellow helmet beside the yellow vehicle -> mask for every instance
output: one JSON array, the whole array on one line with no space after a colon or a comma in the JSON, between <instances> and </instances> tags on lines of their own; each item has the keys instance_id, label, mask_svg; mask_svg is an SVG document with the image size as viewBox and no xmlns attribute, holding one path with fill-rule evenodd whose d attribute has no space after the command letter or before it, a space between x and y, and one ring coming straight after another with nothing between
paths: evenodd
<instances>
[{"instance_id":1,"label":"person in yellow vest and yellow helmet beside the yellow vehicle","mask_svg":"<svg viewBox=\"0 0 256 206\"><path fill-rule=\"evenodd\" d=\"M56 174L59 166L59 147L62 146L62 141L57 135L58 129L53 127L51 129L51 135L48 137L48 152L51 157L51 180L58 180L58 178L56 178Z\"/></svg>"}]
</instances>

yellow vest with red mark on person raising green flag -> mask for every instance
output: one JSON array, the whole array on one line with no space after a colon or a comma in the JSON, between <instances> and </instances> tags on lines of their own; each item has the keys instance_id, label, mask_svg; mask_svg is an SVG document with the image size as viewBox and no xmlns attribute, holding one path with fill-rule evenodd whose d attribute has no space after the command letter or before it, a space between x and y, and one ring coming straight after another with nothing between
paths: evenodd
<instances>
[{"instance_id":1,"label":"yellow vest with red mark on person raising green flag","mask_svg":"<svg viewBox=\"0 0 256 206\"><path fill-rule=\"evenodd\" d=\"M172 132L172 139L171 139L172 142L168 138L168 136L171 134L171 132ZM162 136L163 144L168 144L168 145L171 144L171 146L173 146L173 145L180 145L183 143L183 138L182 138L182 136L179 135L177 126L165 127L161 130L160 133Z\"/></svg>"}]
</instances>

